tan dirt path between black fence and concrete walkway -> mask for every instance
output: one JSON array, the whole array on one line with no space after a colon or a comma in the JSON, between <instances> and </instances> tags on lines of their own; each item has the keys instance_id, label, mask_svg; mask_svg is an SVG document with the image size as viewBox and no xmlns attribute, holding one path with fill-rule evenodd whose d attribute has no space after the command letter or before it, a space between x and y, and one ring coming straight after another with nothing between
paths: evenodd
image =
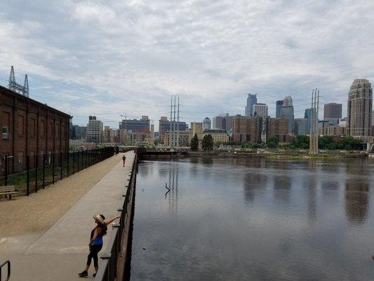
<instances>
[{"instance_id":1,"label":"tan dirt path between black fence and concrete walkway","mask_svg":"<svg viewBox=\"0 0 374 281\"><path fill-rule=\"evenodd\" d=\"M122 153L29 197L0 201L0 237L42 233L121 161Z\"/></svg>"}]
</instances>

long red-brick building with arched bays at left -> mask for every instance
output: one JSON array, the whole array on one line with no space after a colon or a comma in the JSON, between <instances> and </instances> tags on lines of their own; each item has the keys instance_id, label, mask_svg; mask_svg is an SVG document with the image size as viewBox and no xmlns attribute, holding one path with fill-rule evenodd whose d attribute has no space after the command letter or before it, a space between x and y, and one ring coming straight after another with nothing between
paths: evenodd
<instances>
[{"instance_id":1,"label":"long red-brick building with arched bays at left","mask_svg":"<svg viewBox=\"0 0 374 281\"><path fill-rule=\"evenodd\" d=\"M60 152L66 157L69 119L63 112L0 86L0 174L4 173L5 159L11 174L25 170L27 155L31 168L36 161L42 163L44 154L49 163L53 152L55 161L59 161Z\"/></svg>"}]
</instances>

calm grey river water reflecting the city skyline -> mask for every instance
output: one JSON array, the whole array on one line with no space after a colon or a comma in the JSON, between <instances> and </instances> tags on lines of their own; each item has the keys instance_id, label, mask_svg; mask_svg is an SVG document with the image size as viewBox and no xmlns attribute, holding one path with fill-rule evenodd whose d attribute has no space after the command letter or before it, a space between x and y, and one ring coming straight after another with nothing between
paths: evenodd
<instances>
[{"instance_id":1,"label":"calm grey river water reflecting the city skyline","mask_svg":"<svg viewBox=\"0 0 374 281\"><path fill-rule=\"evenodd\" d=\"M140 162L131 280L373 280L373 188L370 159Z\"/></svg>"}]
</instances>

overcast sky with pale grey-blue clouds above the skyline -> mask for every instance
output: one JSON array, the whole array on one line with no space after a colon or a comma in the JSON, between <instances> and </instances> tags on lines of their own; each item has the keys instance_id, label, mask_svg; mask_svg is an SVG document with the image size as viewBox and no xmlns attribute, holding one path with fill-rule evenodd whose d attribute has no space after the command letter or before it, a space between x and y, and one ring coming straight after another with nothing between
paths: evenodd
<instances>
[{"instance_id":1,"label":"overcast sky with pale grey-blue clouds above the skyline","mask_svg":"<svg viewBox=\"0 0 374 281\"><path fill-rule=\"evenodd\" d=\"M352 81L374 81L373 15L371 0L0 1L0 84L14 65L74 124L157 128L176 93L186 122L243 115L247 93L273 116L290 95L303 117L315 86L345 115Z\"/></svg>"}]
</instances>

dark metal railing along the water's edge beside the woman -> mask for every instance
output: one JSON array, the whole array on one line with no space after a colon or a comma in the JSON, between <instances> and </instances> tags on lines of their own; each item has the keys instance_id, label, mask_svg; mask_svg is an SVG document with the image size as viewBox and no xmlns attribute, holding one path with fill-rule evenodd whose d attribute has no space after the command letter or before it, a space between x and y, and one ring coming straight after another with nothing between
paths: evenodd
<instances>
[{"instance_id":1,"label":"dark metal railing along the water's edge beside the woman","mask_svg":"<svg viewBox=\"0 0 374 281\"><path fill-rule=\"evenodd\" d=\"M135 159L131 169L131 175L127 179L128 183L124 188L123 200L121 201L119 209L121 218L119 223L113 225L113 231L109 237L107 248L100 256L99 270L96 274L96 281L113 281L118 280L119 275L119 256L127 256L128 253L123 253L123 249L127 251L129 229L132 219L132 209L134 201L134 192L136 185L136 169L138 165L138 155L135 154ZM122 255L120 255L122 252ZM129 262L126 259L123 263ZM121 265L121 268L126 268L126 264ZM124 274L124 272L122 273Z\"/></svg>"}]
</instances>

